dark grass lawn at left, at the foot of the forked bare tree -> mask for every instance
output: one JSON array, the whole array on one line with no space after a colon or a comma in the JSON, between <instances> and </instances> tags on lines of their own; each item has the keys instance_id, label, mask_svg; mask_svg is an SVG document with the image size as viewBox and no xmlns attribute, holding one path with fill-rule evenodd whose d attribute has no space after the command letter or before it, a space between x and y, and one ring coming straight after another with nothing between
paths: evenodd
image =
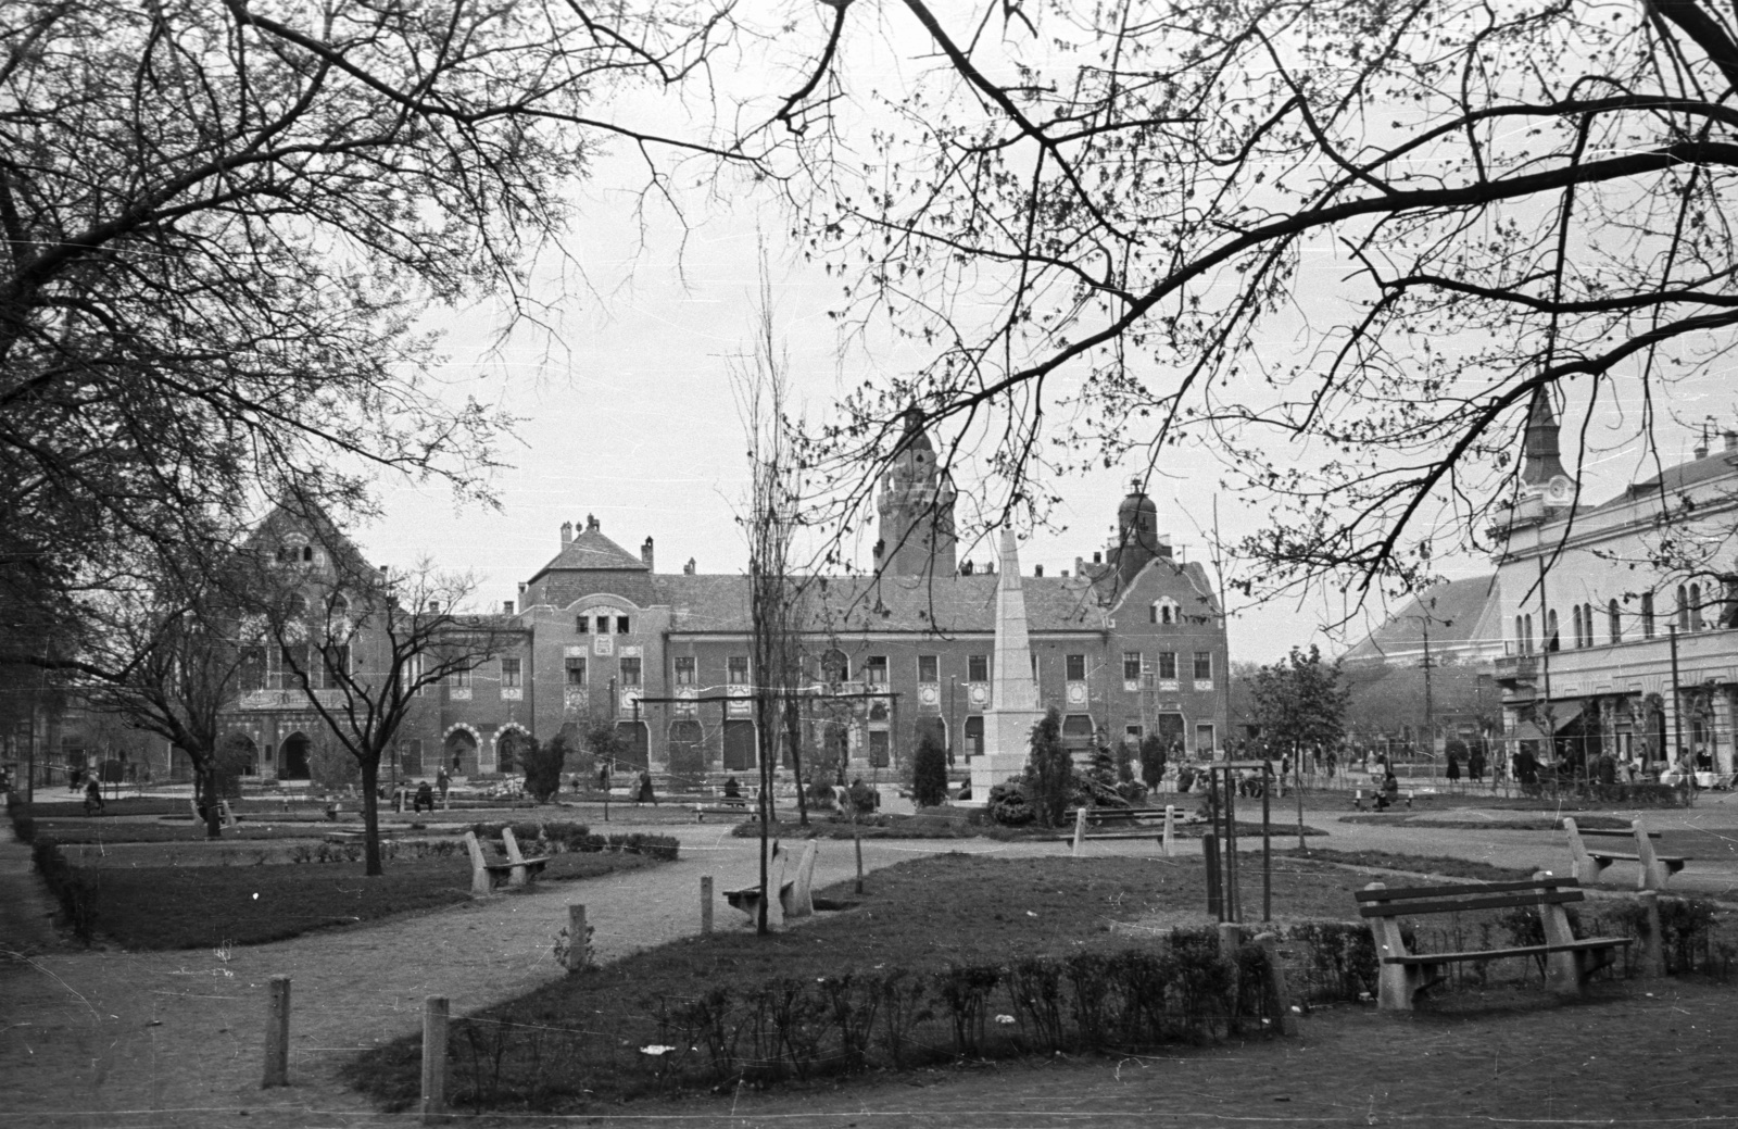
<instances>
[{"instance_id":1,"label":"dark grass lawn at left, at the foot of the forked bare tree","mask_svg":"<svg viewBox=\"0 0 1738 1129\"><path fill-rule=\"evenodd\" d=\"M641 854L561 852L542 882L652 866ZM471 898L461 856L395 861L368 878L362 863L280 866L73 866L96 910L94 929L132 950L261 945L434 910Z\"/></svg>"}]
</instances>

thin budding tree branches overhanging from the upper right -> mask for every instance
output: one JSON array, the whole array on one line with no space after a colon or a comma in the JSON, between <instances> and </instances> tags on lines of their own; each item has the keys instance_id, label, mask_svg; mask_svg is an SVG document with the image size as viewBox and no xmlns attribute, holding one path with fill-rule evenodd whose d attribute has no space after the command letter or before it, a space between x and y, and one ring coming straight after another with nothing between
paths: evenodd
<instances>
[{"instance_id":1,"label":"thin budding tree branches overhanging from the upper right","mask_svg":"<svg viewBox=\"0 0 1738 1129\"><path fill-rule=\"evenodd\" d=\"M1729 5L874 10L817 16L786 111L839 317L932 355L808 447L848 504L914 404L996 515L1192 440L1270 499L1244 588L1413 585L1481 548L1535 391L1646 449L1731 346ZM846 113L888 42L914 77Z\"/></svg>"}]
</instances>

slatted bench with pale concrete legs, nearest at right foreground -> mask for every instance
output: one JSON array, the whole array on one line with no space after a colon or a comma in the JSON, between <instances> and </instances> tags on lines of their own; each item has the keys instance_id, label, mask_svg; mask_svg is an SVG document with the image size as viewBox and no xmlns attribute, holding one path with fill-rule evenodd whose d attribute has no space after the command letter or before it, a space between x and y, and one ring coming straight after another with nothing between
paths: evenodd
<instances>
[{"instance_id":1,"label":"slatted bench with pale concrete legs, nearest at right foreground","mask_svg":"<svg viewBox=\"0 0 1738 1129\"><path fill-rule=\"evenodd\" d=\"M1370 919L1370 932L1376 941L1380 972L1376 978L1376 1005L1382 1011L1411 1011L1418 995L1444 979L1444 965L1462 962L1500 960L1503 957L1545 957L1545 979L1564 995L1580 995L1599 969L1609 965L1615 950L1630 938L1576 939L1569 929L1569 915L1562 906L1583 901L1582 884L1575 878L1554 878L1543 872L1528 882L1481 882L1476 885L1410 885L1389 889L1371 882L1354 894L1357 912ZM1507 906L1533 906L1545 927L1543 945L1519 945L1462 953L1415 953L1401 932L1401 917L1425 913L1465 913L1470 910L1500 910Z\"/></svg>"}]
</instances>

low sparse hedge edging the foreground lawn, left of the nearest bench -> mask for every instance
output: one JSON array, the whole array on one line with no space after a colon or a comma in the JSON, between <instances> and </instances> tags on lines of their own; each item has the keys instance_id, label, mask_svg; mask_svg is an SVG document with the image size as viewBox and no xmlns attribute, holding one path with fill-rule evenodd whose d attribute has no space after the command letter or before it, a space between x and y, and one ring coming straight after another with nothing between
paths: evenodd
<instances>
[{"instance_id":1,"label":"low sparse hedge edging the foreground lawn, left of the nearest bench","mask_svg":"<svg viewBox=\"0 0 1738 1129\"><path fill-rule=\"evenodd\" d=\"M454 1019L450 1098L473 1110L563 1110L594 1098L770 1086L1022 1054L1123 1052L1276 1033L1267 953L1220 959L1211 929L1158 946L921 974L845 972L721 985L650 1002L641 1032ZM370 1051L353 1082L408 1105L415 1039ZM388 1082L384 1079L391 1077Z\"/></svg>"}]
</instances>

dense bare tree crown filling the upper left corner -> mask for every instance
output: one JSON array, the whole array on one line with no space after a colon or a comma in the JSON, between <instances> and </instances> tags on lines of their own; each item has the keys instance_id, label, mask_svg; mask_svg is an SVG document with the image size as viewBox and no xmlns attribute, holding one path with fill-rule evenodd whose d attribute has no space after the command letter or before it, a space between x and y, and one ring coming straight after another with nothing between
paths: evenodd
<instances>
[{"instance_id":1,"label":"dense bare tree crown filling the upper left corner","mask_svg":"<svg viewBox=\"0 0 1738 1129\"><path fill-rule=\"evenodd\" d=\"M535 313L530 252L603 143L707 151L600 101L730 30L711 0L9 3L0 598L64 621L285 480L481 492L507 419L438 395L414 318Z\"/></svg>"}]
</instances>

